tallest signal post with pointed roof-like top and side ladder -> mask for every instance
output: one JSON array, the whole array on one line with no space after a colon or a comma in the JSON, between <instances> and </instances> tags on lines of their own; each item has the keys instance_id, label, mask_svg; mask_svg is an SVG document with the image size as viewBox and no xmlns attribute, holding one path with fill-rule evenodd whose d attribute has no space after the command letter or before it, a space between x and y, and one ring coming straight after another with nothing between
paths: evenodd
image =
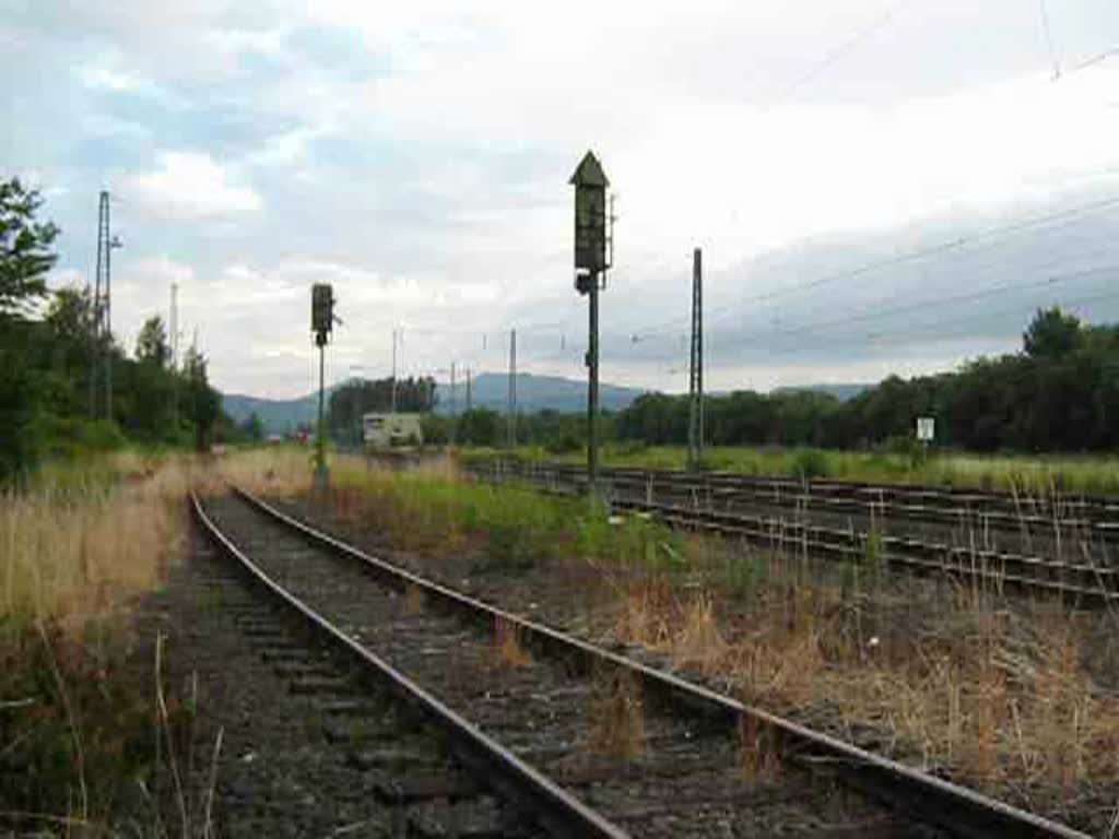
<instances>
[{"instance_id":1,"label":"tallest signal post with pointed roof-like top and side ladder","mask_svg":"<svg viewBox=\"0 0 1119 839\"><path fill-rule=\"evenodd\" d=\"M575 290L590 296L586 342L586 474L593 494L599 481L599 292L613 262L610 181L594 152L586 152L568 181L575 187Z\"/></svg>"}]
</instances>

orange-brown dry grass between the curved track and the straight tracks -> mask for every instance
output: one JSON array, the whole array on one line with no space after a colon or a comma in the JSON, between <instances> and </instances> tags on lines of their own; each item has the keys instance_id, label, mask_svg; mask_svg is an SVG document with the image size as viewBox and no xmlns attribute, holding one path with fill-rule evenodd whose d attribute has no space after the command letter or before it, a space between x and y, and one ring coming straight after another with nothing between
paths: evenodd
<instances>
[{"instance_id":1,"label":"orange-brown dry grass between the curved track and the straight tracks","mask_svg":"<svg viewBox=\"0 0 1119 839\"><path fill-rule=\"evenodd\" d=\"M747 704L856 741L874 732L875 751L1059 818L1080 796L1119 790L1119 673L1109 688L1090 672L1100 638L1115 643L1107 615L896 577L853 592L826 573L806 577L801 558L718 558L708 544L700 559L692 547L683 577L615 584L614 638ZM764 562L765 574L728 585L733 556ZM743 733L754 781L780 764L765 736Z\"/></svg>"}]
</instances>

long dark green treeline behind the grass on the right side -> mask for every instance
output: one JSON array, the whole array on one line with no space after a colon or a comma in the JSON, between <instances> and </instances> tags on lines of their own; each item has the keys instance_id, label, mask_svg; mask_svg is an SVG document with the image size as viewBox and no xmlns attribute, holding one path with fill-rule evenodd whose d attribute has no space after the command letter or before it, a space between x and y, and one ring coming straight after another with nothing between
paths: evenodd
<instances>
[{"instance_id":1,"label":"long dark green treeline behind the grass on the right side","mask_svg":"<svg viewBox=\"0 0 1119 839\"><path fill-rule=\"evenodd\" d=\"M1113 450L1119 447L1119 327L1084 326L1049 309L1034 317L1018 353L980 358L951 374L890 376L845 403L794 390L712 396L706 416L705 436L715 446L884 447L905 455L910 463L903 471L925 465L924 450L913 447L919 416L937 420L934 447ZM687 418L686 396L650 394L617 416L615 431L647 445L685 445ZM904 451L901 441L909 441ZM801 465L818 463L792 463L783 471L800 473Z\"/></svg>"}]
</instances>

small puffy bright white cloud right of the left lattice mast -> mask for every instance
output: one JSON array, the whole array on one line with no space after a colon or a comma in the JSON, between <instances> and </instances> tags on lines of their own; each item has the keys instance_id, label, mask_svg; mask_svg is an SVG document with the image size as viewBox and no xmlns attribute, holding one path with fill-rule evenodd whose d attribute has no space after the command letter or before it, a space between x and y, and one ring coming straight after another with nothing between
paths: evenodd
<instances>
[{"instance_id":1,"label":"small puffy bright white cloud right of the left lattice mast","mask_svg":"<svg viewBox=\"0 0 1119 839\"><path fill-rule=\"evenodd\" d=\"M264 206L229 168L199 152L163 152L153 171L128 176L122 187L126 198L175 220L231 219Z\"/></svg>"}]
</instances>

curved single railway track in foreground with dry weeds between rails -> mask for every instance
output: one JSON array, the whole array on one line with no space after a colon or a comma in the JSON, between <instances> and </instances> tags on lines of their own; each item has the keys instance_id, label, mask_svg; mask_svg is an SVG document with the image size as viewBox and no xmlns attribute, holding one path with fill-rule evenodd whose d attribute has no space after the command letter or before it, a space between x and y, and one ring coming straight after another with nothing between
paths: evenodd
<instances>
[{"instance_id":1,"label":"curved single railway track in foreground with dry weeds between rails","mask_svg":"<svg viewBox=\"0 0 1119 839\"><path fill-rule=\"evenodd\" d=\"M419 704L530 832L1082 836L480 603L244 493L194 503L262 592Z\"/></svg>"}]
</instances>

